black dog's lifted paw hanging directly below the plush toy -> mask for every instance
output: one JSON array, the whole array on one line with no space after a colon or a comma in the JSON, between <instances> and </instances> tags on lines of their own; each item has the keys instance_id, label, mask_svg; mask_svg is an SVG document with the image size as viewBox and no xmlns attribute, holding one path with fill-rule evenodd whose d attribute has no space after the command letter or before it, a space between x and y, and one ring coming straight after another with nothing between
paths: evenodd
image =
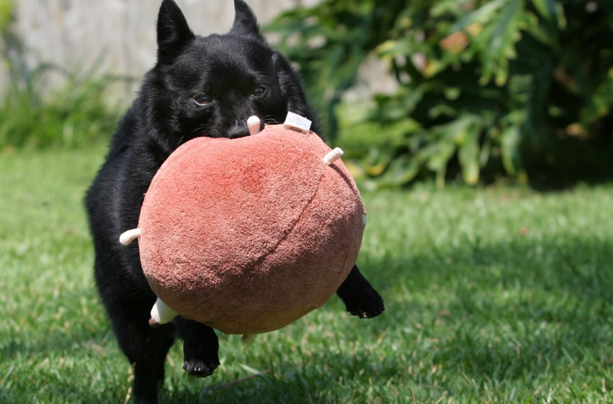
<instances>
[{"instance_id":1,"label":"black dog's lifted paw hanging directly below the plush toy","mask_svg":"<svg viewBox=\"0 0 613 404\"><path fill-rule=\"evenodd\" d=\"M207 377L219 366L219 340L209 326L175 318L180 336L183 338L183 369L189 375Z\"/></svg>"}]
</instances>

